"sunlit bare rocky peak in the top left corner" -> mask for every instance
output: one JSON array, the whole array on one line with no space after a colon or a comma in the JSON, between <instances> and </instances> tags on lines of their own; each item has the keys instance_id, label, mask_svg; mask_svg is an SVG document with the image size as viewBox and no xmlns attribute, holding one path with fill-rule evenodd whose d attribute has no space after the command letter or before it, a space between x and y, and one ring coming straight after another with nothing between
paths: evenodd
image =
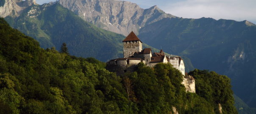
<instances>
[{"instance_id":1,"label":"sunlit bare rocky peak in the top left corner","mask_svg":"<svg viewBox=\"0 0 256 114\"><path fill-rule=\"evenodd\" d=\"M13 16L17 17L21 14L22 10L36 4L35 0L3 0L0 5L0 17Z\"/></svg>"}]
</instances>

